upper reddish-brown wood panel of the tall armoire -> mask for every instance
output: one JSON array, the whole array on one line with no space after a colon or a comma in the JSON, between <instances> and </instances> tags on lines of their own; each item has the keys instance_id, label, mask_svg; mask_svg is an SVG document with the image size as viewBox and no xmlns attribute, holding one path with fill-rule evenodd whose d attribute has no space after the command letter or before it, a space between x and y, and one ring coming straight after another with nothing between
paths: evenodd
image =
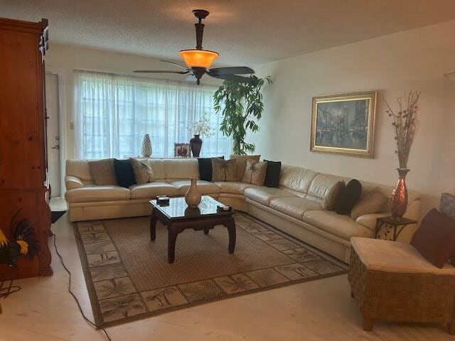
<instances>
[{"instance_id":1,"label":"upper reddish-brown wood panel of the tall armoire","mask_svg":"<svg viewBox=\"0 0 455 341\"><path fill-rule=\"evenodd\" d=\"M0 31L0 189L43 188L39 36Z\"/></svg>"}]
</instances>

